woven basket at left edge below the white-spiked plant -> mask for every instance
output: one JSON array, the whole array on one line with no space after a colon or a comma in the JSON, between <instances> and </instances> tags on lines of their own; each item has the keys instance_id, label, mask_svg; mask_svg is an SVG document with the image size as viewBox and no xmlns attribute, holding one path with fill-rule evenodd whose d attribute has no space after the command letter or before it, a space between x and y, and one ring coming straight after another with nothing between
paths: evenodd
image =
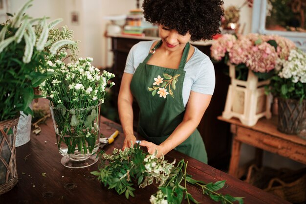
<instances>
[{"instance_id":1,"label":"woven basket at left edge below the white-spiked plant","mask_svg":"<svg viewBox=\"0 0 306 204\"><path fill-rule=\"evenodd\" d=\"M0 122L0 195L18 182L15 137L19 117Z\"/></svg>"}]
</instances>

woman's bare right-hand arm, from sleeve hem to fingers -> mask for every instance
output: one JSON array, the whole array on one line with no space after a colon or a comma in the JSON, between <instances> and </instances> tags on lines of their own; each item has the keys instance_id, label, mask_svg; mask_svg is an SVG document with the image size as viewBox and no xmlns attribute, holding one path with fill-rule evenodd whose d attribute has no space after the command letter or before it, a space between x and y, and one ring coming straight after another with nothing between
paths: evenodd
<instances>
[{"instance_id":1,"label":"woman's bare right-hand arm, from sleeve hem to fingers","mask_svg":"<svg viewBox=\"0 0 306 204\"><path fill-rule=\"evenodd\" d=\"M157 157L166 155L196 130L211 98L212 95L191 91L183 121L175 128L175 131L160 145L155 145L148 141L141 141L140 146L147 147L150 154L153 154L157 149Z\"/></svg>"}]
</instances>

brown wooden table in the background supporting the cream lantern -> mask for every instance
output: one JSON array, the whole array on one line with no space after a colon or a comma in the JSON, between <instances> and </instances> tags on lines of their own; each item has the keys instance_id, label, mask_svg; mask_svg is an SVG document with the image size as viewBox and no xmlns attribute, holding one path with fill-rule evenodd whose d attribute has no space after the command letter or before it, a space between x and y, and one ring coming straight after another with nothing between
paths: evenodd
<instances>
[{"instance_id":1,"label":"brown wooden table in the background supporting the cream lantern","mask_svg":"<svg viewBox=\"0 0 306 204\"><path fill-rule=\"evenodd\" d=\"M306 140L296 135L286 135L277 130L277 117L271 119L261 118L257 124L248 127L236 119L218 117L231 124L233 134L232 156L229 166L229 174L240 178L245 174L246 167L250 163L262 164L262 150L272 152L283 157L306 164ZM256 147L255 159L239 167L241 143Z\"/></svg>"}]
</instances>

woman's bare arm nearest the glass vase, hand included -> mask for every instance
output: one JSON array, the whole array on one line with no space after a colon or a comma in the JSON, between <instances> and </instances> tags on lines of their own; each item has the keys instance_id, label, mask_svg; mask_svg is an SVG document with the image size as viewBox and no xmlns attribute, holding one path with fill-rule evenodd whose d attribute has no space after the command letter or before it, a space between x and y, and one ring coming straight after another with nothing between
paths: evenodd
<instances>
[{"instance_id":1,"label":"woman's bare arm nearest the glass vase, hand included","mask_svg":"<svg viewBox=\"0 0 306 204\"><path fill-rule=\"evenodd\" d=\"M130 147L136 141L133 131L133 96L130 89L132 77L133 74L123 74L118 95L119 118L125 135L122 149Z\"/></svg>"}]
</instances>

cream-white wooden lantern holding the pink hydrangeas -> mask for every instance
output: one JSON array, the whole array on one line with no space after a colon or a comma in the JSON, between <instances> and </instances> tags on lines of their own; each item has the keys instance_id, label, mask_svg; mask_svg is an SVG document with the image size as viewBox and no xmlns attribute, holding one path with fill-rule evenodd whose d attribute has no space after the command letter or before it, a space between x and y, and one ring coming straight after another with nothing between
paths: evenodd
<instances>
[{"instance_id":1,"label":"cream-white wooden lantern holding the pink hydrangeas","mask_svg":"<svg viewBox=\"0 0 306 204\"><path fill-rule=\"evenodd\" d=\"M264 93L264 86L269 80L258 81L258 77L249 69L247 81L236 79L235 66L229 65L231 85L228 87L225 108L222 117L239 118L247 126L253 126L258 119L271 118L272 96Z\"/></svg>"}]
</instances>

